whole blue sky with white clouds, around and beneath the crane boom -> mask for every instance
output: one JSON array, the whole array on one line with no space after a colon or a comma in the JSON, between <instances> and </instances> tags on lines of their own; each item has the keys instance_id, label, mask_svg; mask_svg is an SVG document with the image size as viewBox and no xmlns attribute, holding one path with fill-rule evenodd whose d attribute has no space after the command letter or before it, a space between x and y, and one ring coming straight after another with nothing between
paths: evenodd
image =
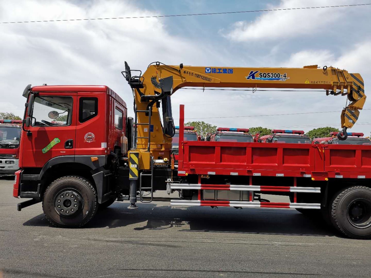
<instances>
[{"instance_id":1,"label":"whole blue sky with white clouds, around and beneath the crane boom","mask_svg":"<svg viewBox=\"0 0 371 278\"><path fill-rule=\"evenodd\" d=\"M3 0L0 21L133 17L371 3L370 0ZM0 112L23 115L27 84L108 85L128 104L121 76L151 62L219 67L302 67L318 64L371 80L371 6L46 23L0 24ZM325 92L178 90L173 116L223 127L340 127L345 97ZM354 132L370 134L371 102ZM338 111L328 112L327 111ZM276 115L292 113L316 114ZM240 116L239 118L220 118ZM241 117L249 116L249 117ZM175 120L177 122L177 120Z\"/></svg>"}]
</instances>

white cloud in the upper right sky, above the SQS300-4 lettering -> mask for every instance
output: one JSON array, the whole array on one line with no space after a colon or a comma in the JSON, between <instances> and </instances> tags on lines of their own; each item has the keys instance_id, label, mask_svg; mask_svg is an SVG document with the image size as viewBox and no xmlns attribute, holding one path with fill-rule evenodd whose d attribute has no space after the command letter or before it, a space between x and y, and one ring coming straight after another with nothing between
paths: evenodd
<instances>
[{"instance_id":1,"label":"white cloud in the upper right sky, above the SQS300-4 lettering","mask_svg":"<svg viewBox=\"0 0 371 278\"><path fill-rule=\"evenodd\" d=\"M289 9L293 7L318 7L356 4L355 0L281 0L277 6L269 5L267 9ZM303 9L280 10L262 13L255 20L237 21L225 37L237 42L252 40L282 40L306 34L320 32L341 32L335 23L337 20L349 17L349 9Z\"/></svg>"}]
</instances>

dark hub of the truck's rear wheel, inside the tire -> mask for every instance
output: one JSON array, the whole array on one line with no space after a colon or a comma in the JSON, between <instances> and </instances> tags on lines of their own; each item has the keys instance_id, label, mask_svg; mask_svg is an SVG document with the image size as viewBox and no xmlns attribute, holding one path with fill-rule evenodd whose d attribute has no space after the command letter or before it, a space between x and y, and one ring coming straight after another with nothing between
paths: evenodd
<instances>
[{"instance_id":1,"label":"dark hub of the truck's rear wheel, inside the tire","mask_svg":"<svg viewBox=\"0 0 371 278\"><path fill-rule=\"evenodd\" d=\"M348 206L348 220L357 228L371 226L371 202L367 199L356 199Z\"/></svg>"}]
</instances>

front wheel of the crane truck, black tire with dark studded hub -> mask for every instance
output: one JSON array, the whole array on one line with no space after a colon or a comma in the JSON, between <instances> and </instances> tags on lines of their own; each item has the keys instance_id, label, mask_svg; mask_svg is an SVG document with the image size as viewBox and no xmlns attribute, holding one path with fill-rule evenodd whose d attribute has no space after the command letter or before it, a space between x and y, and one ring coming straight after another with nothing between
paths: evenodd
<instances>
[{"instance_id":1,"label":"front wheel of the crane truck, black tire with dark studded hub","mask_svg":"<svg viewBox=\"0 0 371 278\"><path fill-rule=\"evenodd\" d=\"M80 176L56 179L46 188L43 196L46 219L60 228L85 225L93 218L97 209L98 200L93 185Z\"/></svg>"}]
</instances>

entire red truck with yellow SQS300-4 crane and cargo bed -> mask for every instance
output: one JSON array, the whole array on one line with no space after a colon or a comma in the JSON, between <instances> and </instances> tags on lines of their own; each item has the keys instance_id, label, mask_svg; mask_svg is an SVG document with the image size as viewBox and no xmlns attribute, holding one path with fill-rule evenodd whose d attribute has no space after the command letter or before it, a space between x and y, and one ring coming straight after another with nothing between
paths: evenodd
<instances>
[{"instance_id":1,"label":"entire red truck with yellow SQS300-4 crane and cargo bed","mask_svg":"<svg viewBox=\"0 0 371 278\"><path fill-rule=\"evenodd\" d=\"M142 75L125 62L122 74L135 98L134 125L125 102L106 86L26 87L13 196L32 199L19 203L19 210L42 202L50 223L79 227L114 200L129 200L131 209L137 208L137 199L172 206L319 209L343 234L371 237L370 146L187 141L181 105L177 169L171 158L175 126L170 98L182 87L324 89L326 95L346 95L350 102L342 110L338 138L347 139L366 98L358 73L316 65L155 62ZM53 123L60 115L65 120ZM179 198L155 198L157 190L178 191ZM286 194L293 202L259 200L261 192Z\"/></svg>"}]
</instances>

